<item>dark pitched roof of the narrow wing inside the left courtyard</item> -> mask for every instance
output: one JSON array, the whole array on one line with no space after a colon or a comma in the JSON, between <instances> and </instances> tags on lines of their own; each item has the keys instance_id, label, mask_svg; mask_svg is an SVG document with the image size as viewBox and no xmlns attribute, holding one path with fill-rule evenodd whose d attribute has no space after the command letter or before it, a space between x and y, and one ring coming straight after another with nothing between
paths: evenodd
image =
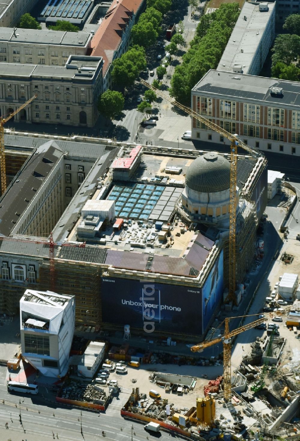
<instances>
[{"instance_id":1,"label":"dark pitched roof of the narrow wing inside the left courtyard","mask_svg":"<svg viewBox=\"0 0 300 441\"><path fill-rule=\"evenodd\" d=\"M8 236L15 228L62 154L55 141L48 141L24 164L0 198L0 235Z\"/></svg>"}]
</instances>

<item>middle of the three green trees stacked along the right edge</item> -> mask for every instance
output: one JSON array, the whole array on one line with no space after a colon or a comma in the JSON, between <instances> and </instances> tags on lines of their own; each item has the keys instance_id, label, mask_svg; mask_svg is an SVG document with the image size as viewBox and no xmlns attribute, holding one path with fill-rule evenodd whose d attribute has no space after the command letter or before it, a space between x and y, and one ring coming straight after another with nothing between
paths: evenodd
<instances>
[{"instance_id":1,"label":"middle of the three green trees stacked along the right edge","mask_svg":"<svg viewBox=\"0 0 300 441\"><path fill-rule=\"evenodd\" d=\"M300 56L300 36L279 34L271 50L273 52L272 66L277 64L278 61L289 65L294 57L298 58Z\"/></svg>"}]
</instances>

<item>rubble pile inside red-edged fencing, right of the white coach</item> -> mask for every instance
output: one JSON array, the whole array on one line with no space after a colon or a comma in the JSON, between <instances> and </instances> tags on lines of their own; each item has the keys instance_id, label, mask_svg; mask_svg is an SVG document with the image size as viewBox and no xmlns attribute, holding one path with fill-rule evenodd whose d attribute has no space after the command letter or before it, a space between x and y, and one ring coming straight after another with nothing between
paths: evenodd
<instances>
[{"instance_id":1,"label":"rubble pile inside red-edged fencing, right of the white coach","mask_svg":"<svg viewBox=\"0 0 300 441\"><path fill-rule=\"evenodd\" d=\"M68 386L63 387L59 393L59 397L66 400L101 405L107 404L109 400L109 396L106 395L104 389L100 386L90 383L84 384L79 381L71 381Z\"/></svg>"}]
</instances>

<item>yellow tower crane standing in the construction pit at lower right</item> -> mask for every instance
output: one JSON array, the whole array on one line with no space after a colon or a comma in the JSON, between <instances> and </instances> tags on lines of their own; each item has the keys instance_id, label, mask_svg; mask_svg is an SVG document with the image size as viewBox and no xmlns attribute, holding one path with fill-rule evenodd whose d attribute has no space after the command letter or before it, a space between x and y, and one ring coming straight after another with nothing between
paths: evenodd
<instances>
[{"instance_id":1,"label":"yellow tower crane standing in the construction pit at lower right","mask_svg":"<svg viewBox=\"0 0 300 441\"><path fill-rule=\"evenodd\" d=\"M254 314L257 315L257 314ZM229 332L229 321L233 318L242 318L249 317L240 315L238 317L227 317L224 321L219 325L221 326L225 323L224 335L220 335L213 340L204 340L202 343L196 344L191 347L192 352L202 351L209 346L213 346L214 344L218 344L220 342L223 343L223 370L224 370L224 400L228 402L231 398L231 339L232 337L247 331L248 329L255 328L255 326L260 325L266 318L259 318L258 320L252 321L248 325L241 326L240 328L233 329L233 331Z\"/></svg>"}]
</instances>

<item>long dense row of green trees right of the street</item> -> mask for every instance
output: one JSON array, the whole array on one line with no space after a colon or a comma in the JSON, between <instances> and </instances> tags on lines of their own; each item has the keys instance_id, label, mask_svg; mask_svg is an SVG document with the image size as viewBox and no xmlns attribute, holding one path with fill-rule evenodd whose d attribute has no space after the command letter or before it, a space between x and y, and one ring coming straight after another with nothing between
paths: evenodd
<instances>
[{"instance_id":1,"label":"long dense row of green trees right of the street","mask_svg":"<svg viewBox=\"0 0 300 441\"><path fill-rule=\"evenodd\" d=\"M239 4L231 3L201 17L191 47L171 79L170 95L176 101L189 105L191 89L209 69L216 69L239 14Z\"/></svg>"}]
</instances>

